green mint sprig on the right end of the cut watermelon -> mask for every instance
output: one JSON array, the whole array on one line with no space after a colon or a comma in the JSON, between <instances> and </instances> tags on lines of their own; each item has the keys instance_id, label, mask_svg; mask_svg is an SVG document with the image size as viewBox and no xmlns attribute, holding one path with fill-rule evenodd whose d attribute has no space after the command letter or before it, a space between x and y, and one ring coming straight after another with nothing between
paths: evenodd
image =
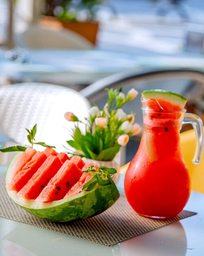
<instances>
[{"instance_id":1,"label":"green mint sprig on the right end of the cut watermelon","mask_svg":"<svg viewBox=\"0 0 204 256\"><path fill-rule=\"evenodd\" d=\"M105 166L99 166L98 169L94 169L94 166L91 165L86 171L82 171L83 173L90 173L92 175L92 179L86 184L84 184L82 191L91 191L95 188L97 184L100 186L109 185L112 183L112 177L114 173L116 173L116 169L114 168L107 168Z\"/></svg>"}]
</instances>

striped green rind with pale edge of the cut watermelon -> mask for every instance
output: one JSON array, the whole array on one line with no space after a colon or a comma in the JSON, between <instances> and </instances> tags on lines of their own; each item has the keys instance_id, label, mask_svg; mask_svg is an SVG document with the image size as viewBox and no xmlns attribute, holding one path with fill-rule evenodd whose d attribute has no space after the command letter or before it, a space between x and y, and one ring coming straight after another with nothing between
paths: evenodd
<instances>
[{"instance_id":1,"label":"striped green rind with pale edge of the cut watermelon","mask_svg":"<svg viewBox=\"0 0 204 256\"><path fill-rule=\"evenodd\" d=\"M22 152L17 153L7 168L5 186L11 179L12 170ZM7 187L7 186L6 186ZM7 190L7 194L20 207L32 215L55 222L84 220L102 213L111 207L119 198L119 192L114 184L97 186L92 191L83 191L69 198L53 202L36 202L20 198L15 191Z\"/></svg>"}]
</instances>

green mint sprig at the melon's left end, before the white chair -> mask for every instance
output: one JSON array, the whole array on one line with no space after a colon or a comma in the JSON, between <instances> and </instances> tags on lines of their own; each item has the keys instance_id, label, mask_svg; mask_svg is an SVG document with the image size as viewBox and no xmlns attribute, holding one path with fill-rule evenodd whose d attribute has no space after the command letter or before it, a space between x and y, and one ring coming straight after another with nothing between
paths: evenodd
<instances>
[{"instance_id":1,"label":"green mint sprig at the melon's left end, before the white chair","mask_svg":"<svg viewBox=\"0 0 204 256\"><path fill-rule=\"evenodd\" d=\"M31 143L31 148L33 148L34 144L41 145L41 146L46 147L46 148L55 148L55 146L49 146L46 143L41 142L41 141L40 142L35 142L35 134L37 132L37 124L35 124L31 130L26 128L26 131L28 132L27 139L28 139L29 143ZM5 152L14 152L14 151L25 151L25 150L26 150L26 147L23 147L23 146L11 146L11 147L8 147L8 148L0 149L0 151L3 152L3 153L5 153Z\"/></svg>"}]
</instances>

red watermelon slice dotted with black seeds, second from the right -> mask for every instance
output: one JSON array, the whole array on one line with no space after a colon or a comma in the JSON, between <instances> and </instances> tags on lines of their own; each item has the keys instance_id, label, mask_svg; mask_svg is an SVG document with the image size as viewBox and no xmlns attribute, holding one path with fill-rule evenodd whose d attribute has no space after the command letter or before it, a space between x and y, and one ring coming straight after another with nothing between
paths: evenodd
<instances>
[{"instance_id":1,"label":"red watermelon slice dotted with black seeds, second from the right","mask_svg":"<svg viewBox=\"0 0 204 256\"><path fill-rule=\"evenodd\" d=\"M48 182L48 185L36 198L38 202L50 202L64 198L67 191L81 177L81 170L70 160L61 166L55 176Z\"/></svg>"}]
</instances>

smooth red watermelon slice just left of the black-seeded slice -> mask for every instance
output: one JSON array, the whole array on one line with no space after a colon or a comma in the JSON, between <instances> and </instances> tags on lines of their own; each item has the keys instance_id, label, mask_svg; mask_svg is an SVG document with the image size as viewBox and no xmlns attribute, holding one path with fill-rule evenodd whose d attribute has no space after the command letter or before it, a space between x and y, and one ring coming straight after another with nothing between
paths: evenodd
<instances>
[{"instance_id":1,"label":"smooth red watermelon slice just left of the black-seeded slice","mask_svg":"<svg viewBox=\"0 0 204 256\"><path fill-rule=\"evenodd\" d=\"M58 155L49 155L17 195L27 199L37 198L62 164L63 162L61 162Z\"/></svg>"}]
</instances>

